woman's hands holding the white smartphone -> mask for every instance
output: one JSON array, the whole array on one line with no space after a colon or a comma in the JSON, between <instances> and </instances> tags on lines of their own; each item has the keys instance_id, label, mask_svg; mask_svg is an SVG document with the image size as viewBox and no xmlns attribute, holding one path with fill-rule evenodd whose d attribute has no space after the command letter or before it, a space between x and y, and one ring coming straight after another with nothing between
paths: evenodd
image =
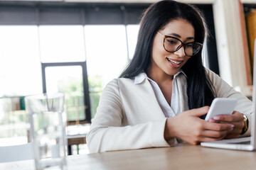
<instances>
[{"instance_id":1,"label":"woman's hands holding the white smartphone","mask_svg":"<svg viewBox=\"0 0 256 170\"><path fill-rule=\"evenodd\" d=\"M235 125L233 122L227 120L240 120L240 113L234 113L234 118L220 118L220 120L205 121L199 118L201 115L208 113L209 107L205 106L202 108L192 109L177 115L174 118L170 118L173 123L170 125L177 124L181 126L178 132L169 132L175 137L179 137L192 145L196 145L200 142L210 142L215 140L223 140L223 138L234 136L237 132L234 131ZM218 122L218 123L215 123ZM167 123L168 124L168 123ZM168 125L169 125L168 124ZM236 125L237 126L237 125ZM175 128L171 128L175 129ZM235 134L233 134L235 132Z\"/></svg>"}]
</instances>

